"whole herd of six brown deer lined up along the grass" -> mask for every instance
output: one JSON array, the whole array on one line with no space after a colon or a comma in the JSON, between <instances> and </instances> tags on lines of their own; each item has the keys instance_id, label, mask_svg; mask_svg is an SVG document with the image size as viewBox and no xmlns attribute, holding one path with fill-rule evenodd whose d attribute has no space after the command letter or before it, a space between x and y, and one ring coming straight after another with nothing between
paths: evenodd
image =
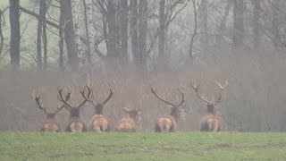
<instances>
[{"instance_id":1,"label":"whole herd of six brown deer lined up along the grass","mask_svg":"<svg viewBox=\"0 0 286 161\"><path fill-rule=\"evenodd\" d=\"M214 84L220 89L219 97L210 101L204 95L198 92L200 87L199 83L192 82L191 87L194 89L196 95L199 99L201 99L204 103L206 103L206 114L201 117L200 120L200 131L222 131L222 121L223 119L219 114L217 114L217 104L222 102L223 100L223 92L224 89L228 86L227 80L225 80L225 84L222 85L217 81L212 80ZM111 99L114 95L113 89L107 84L109 89L109 95L105 98L103 102L96 103L93 98L92 88L86 85L84 88L80 89L80 96L82 97L82 101L79 105L74 106L71 105L71 90L67 89L58 89L57 90L57 98L61 102L61 106L59 106L55 112L47 112L46 107L43 106L40 102L41 95L39 91L33 91L33 98L36 101L36 105L40 110L44 112L46 115L46 123L43 124L40 131L61 131L59 123L56 122L55 115L60 112L63 108L70 113L70 120L67 123L65 131L111 131L110 123L108 118L106 118L103 110L105 108L106 103ZM185 118L185 110L182 105L185 102L184 93L181 89L178 89L181 94L181 101L179 103L171 103L164 98L157 95L155 89L151 88L151 93L164 102L165 104L171 106L171 113L165 115L164 117L160 117L156 121L155 131L156 132L174 132L177 130L177 124L180 119ZM95 113L91 117L88 126L80 119L80 109L85 104L90 104L94 107ZM140 109L128 109L123 107L122 109L128 116L122 117L114 127L114 131L118 132L135 132L139 128L140 123Z\"/></svg>"}]
</instances>

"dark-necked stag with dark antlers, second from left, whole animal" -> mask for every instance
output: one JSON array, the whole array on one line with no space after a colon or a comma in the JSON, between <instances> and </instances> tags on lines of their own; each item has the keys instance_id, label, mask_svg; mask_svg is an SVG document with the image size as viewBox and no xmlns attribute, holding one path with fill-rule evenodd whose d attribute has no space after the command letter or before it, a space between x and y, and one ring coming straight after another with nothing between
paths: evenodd
<instances>
[{"instance_id":1,"label":"dark-necked stag with dark antlers, second from left, whole animal","mask_svg":"<svg viewBox=\"0 0 286 161\"><path fill-rule=\"evenodd\" d=\"M88 89L88 95L86 94L86 89ZM85 88L80 90L80 94L84 97L84 100L78 106L71 106L66 99L63 99L63 89L58 89L58 99L63 102L64 108L70 112L70 123L68 123L65 131L87 131L86 125L80 119L80 108L88 102L88 98L91 97L91 90L85 86ZM71 93L70 93L71 94ZM68 94L69 95L69 94ZM68 97L68 96L66 96Z\"/></svg>"}]
</instances>

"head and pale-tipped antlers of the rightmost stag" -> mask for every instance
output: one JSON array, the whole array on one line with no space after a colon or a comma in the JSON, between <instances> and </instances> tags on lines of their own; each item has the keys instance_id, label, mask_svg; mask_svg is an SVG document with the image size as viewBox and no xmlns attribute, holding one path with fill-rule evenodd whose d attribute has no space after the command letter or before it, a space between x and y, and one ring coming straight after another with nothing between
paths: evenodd
<instances>
[{"instance_id":1,"label":"head and pale-tipped antlers of the rightmost stag","mask_svg":"<svg viewBox=\"0 0 286 161\"><path fill-rule=\"evenodd\" d=\"M218 86L219 89L221 89L221 92L219 93L219 97L217 97L217 99L214 99L214 97L213 97L212 101L208 100L206 97L204 97L204 96L202 96L202 95L200 95L198 93L198 89L199 89L199 86L200 86L199 83L196 84L195 82L192 82L191 86L196 91L196 94L197 94L198 98L203 100L206 103L206 111L207 111L207 113L215 114L215 108L217 108L216 105L223 101L223 91L224 91L225 87L228 86L228 82L227 82L227 80L225 80L225 84L222 85L222 84L220 84L217 81L214 81L214 80L212 80L212 81Z\"/></svg>"}]
</instances>

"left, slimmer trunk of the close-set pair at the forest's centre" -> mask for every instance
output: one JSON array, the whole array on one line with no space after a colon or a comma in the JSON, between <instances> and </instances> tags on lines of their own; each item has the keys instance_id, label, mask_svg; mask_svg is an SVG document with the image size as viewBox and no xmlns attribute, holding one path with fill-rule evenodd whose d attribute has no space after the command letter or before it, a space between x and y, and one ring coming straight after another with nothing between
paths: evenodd
<instances>
[{"instance_id":1,"label":"left, slimmer trunk of the close-set pair at the forest's centre","mask_svg":"<svg viewBox=\"0 0 286 161\"><path fill-rule=\"evenodd\" d=\"M138 1L130 1L130 32L131 32L131 48L134 62L139 62L139 48L138 48Z\"/></svg>"}]
</instances>

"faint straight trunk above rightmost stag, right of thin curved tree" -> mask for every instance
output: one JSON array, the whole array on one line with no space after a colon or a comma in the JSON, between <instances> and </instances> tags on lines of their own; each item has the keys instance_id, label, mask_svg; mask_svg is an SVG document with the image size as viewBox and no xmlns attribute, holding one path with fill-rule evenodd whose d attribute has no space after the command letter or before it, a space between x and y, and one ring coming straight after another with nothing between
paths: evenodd
<instances>
[{"instance_id":1,"label":"faint straight trunk above rightmost stag, right of thin curved tree","mask_svg":"<svg viewBox=\"0 0 286 161\"><path fill-rule=\"evenodd\" d=\"M201 1L201 8L200 8L200 26L202 28L203 35L200 39L200 44L203 49L203 53L207 53L208 48L208 34L207 34L207 4L208 0Z\"/></svg>"}]
</instances>

